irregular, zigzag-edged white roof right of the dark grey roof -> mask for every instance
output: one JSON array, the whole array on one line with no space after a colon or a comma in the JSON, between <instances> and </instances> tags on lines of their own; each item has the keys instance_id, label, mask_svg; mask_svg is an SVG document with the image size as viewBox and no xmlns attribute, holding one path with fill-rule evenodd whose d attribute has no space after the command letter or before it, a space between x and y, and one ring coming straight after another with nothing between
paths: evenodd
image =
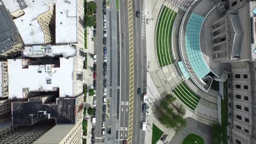
<instances>
[{"instance_id":1,"label":"irregular, zigzag-edged white roof right of the dark grey roof","mask_svg":"<svg viewBox=\"0 0 256 144\"><path fill-rule=\"evenodd\" d=\"M21 38L24 44L44 44L44 33L37 21L37 17L49 11L50 7L44 3L44 0L25 0L25 3L27 7L22 9L25 14L14 20ZM11 8L11 4L15 5L17 2L9 1L7 4L8 9Z\"/></svg>"}]
</instances>

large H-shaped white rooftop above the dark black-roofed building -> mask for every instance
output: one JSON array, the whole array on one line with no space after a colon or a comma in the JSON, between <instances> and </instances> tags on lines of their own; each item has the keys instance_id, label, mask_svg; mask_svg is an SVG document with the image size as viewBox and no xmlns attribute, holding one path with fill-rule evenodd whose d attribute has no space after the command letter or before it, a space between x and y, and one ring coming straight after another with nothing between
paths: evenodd
<instances>
[{"instance_id":1,"label":"large H-shaped white rooftop above the dark black-roofed building","mask_svg":"<svg viewBox=\"0 0 256 144\"><path fill-rule=\"evenodd\" d=\"M48 69L49 68L49 69ZM38 73L38 71L42 71ZM22 69L22 59L8 59L9 98L23 98L22 88L29 91L53 91L60 88L60 97L73 96L74 58L60 58L60 68L50 65L29 65ZM46 80L51 80L46 84Z\"/></svg>"}]
</instances>

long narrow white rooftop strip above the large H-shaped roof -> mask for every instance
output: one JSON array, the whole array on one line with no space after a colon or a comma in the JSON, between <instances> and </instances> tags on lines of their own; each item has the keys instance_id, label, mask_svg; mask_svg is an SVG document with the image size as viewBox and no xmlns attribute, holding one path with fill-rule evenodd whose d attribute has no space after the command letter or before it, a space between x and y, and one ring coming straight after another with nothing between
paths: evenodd
<instances>
[{"instance_id":1,"label":"long narrow white rooftop strip above the large H-shaped roof","mask_svg":"<svg viewBox=\"0 0 256 144\"><path fill-rule=\"evenodd\" d=\"M33 45L25 46L23 55L30 57L42 57L45 55L63 55L63 57L73 57L76 55L76 50L75 47L71 47L71 45Z\"/></svg>"}]
</instances>

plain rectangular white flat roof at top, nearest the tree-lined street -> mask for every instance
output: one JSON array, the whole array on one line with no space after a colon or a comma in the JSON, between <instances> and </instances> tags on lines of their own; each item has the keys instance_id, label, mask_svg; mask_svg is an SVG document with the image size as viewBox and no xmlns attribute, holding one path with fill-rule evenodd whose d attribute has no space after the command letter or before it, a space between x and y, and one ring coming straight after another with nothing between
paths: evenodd
<instances>
[{"instance_id":1,"label":"plain rectangular white flat roof at top, nearest the tree-lined street","mask_svg":"<svg viewBox=\"0 0 256 144\"><path fill-rule=\"evenodd\" d=\"M77 0L59 0L55 5L56 44L77 43Z\"/></svg>"}]
</instances>

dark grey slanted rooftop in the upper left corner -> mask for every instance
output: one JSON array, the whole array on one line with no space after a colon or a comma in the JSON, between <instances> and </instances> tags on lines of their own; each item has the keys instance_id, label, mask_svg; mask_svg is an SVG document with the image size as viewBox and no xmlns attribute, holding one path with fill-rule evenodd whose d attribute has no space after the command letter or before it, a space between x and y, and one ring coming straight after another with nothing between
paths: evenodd
<instances>
[{"instance_id":1,"label":"dark grey slanted rooftop in the upper left corner","mask_svg":"<svg viewBox=\"0 0 256 144\"><path fill-rule=\"evenodd\" d=\"M0 52L11 49L18 42L15 35L19 35L10 14L0 1Z\"/></svg>"}]
</instances>

